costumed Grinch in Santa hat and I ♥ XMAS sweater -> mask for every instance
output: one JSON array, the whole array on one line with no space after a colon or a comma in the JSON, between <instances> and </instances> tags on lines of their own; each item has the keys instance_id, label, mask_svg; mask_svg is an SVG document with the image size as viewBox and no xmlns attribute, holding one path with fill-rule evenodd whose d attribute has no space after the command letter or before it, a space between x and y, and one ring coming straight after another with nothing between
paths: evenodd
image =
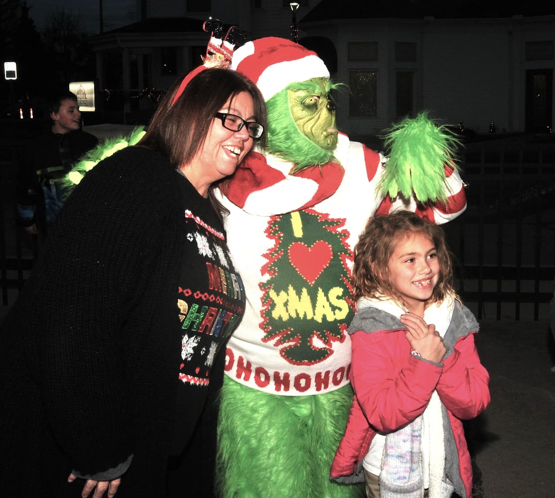
<instances>
[{"instance_id":1,"label":"costumed Grinch in Santa hat and I \u2665 XMAS sweater","mask_svg":"<svg viewBox=\"0 0 555 498\"><path fill-rule=\"evenodd\" d=\"M449 155L456 140L421 115L391 130L386 164L337 132L326 65L286 39L246 43L231 69L258 85L269 121L266 148L219 196L247 297L226 350L221 495L362 496L329 480L352 401L352 249L376 213L408 209L442 223L465 209Z\"/></svg>"}]
</instances>

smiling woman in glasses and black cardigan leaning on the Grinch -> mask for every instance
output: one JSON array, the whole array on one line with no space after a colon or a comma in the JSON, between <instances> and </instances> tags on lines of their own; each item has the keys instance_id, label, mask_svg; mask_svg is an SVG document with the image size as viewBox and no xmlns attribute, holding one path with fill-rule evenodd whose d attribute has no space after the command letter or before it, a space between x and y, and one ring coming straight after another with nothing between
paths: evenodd
<instances>
[{"instance_id":1,"label":"smiling woman in glasses and black cardigan leaning on the Grinch","mask_svg":"<svg viewBox=\"0 0 555 498\"><path fill-rule=\"evenodd\" d=\"M245 307L212 192L266 111L229 69L179 83L138 144L74 188L2 324L2 496L211 495Z\"/></svg>"}]
</instances>

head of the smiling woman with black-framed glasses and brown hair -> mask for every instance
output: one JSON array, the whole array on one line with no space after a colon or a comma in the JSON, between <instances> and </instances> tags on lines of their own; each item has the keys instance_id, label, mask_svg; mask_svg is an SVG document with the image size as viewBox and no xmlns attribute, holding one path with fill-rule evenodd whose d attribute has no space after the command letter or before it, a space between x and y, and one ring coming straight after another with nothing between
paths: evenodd
<instances>
[{"instance_id":1,"label":"head of the smiling woman with black-framed glasses and brown hair","mask_svg":"<svg viewBox=\"0 0 555 498\"><path fill-rule=\"evenodd\" d=\"M199 194L220 209L211 194L213 184L233 174L254 145L251 135L263 136L264 100L248 78L220 68L201 70L180 92L176 82L138 145L164 150ZM222 114L235 115L241 126L231 126Z\"/></svg>"}]
</instances>

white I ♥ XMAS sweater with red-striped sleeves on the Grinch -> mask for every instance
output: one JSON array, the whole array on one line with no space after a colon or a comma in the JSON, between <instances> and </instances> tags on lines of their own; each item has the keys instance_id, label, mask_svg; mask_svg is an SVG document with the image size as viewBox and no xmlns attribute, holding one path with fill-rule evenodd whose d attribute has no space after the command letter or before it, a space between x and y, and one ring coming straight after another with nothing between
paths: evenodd
<instances>
[{"instance_id":1,"label":"white I \u2665 XMAS sweater with red-striped sleeves on the Grinch","mask_svg":"<svg viewBox=\"0 0 555 498\"><path fill-rule=\"evenodd\" d=\"M247 297L226 375L253 389L295 396L346 385L352 250L367 219L402 206L441 223L466 208L462 181L447 167L448 201L432 208L381 199L385 157L346 135L335 158L292 176L290 162L251 153L221 194Z\"/></svg>"}]
</instances>

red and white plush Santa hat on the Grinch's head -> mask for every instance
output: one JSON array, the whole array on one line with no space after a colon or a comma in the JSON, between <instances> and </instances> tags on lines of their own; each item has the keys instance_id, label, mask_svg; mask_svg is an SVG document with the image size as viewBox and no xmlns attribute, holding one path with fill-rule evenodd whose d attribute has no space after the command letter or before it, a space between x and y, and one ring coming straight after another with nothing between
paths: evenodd
<instances>
[{"instance_id":1,"label":"red and white plush Santa hat on the Grinch's head","mask_svg":"<svg viewBox=\"0 0 555 498\"><path fill-rule=\"evenodd\" d=\"M310 78L330 78L315 52L285 38L267 37L247 42L235 50L231 69L256 83L265 100L287 85Z\"/></svg>"}]
</instances>

